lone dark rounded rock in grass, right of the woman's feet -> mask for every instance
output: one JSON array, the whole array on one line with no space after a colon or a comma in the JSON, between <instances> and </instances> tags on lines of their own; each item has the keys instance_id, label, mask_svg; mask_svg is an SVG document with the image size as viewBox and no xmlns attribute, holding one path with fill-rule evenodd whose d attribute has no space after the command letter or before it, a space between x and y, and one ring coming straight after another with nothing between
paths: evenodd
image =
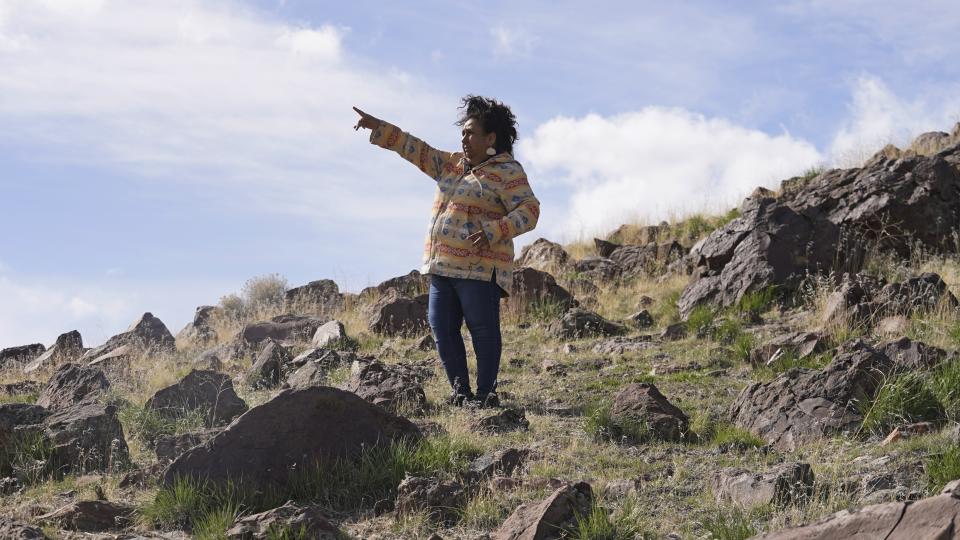
<instances>
[{"instance_id":1,"label":"lone dark rounded rock in grass, right of the woman's feet","mask_svg":"<svg viewBox=\"0 0 960 540\"><path fill-rule=\"evenodd\" d=\"M687 415L650 383L634 383L620 390L613 398L610 420L618 431L614 435L631 442L679 441L690 424Z\"/></svg>"}]
</instances>

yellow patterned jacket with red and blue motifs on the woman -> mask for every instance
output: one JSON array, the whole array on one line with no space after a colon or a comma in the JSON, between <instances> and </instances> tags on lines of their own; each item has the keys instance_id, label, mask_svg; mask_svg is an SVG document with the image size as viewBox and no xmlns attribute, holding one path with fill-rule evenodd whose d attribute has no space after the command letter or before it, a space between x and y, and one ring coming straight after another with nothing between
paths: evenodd
<instances>
[{"instance_id":1,"label":"yellow patterned jacket with red and blue motifs on the woman","mask_svg":"<svg viewBox=\"0 0 960 540\"><path fill-rule=\"evenodd\" d=\"M473 167L461 152L443 152L382 122L370 142L393 150L437 182L423 250L424 274L496 282L506 296L513 282L513 238L537 225L540 201L513 156L502 153ZM467 237L483 228L490 249Z\"/></svg>"}]
</instances>

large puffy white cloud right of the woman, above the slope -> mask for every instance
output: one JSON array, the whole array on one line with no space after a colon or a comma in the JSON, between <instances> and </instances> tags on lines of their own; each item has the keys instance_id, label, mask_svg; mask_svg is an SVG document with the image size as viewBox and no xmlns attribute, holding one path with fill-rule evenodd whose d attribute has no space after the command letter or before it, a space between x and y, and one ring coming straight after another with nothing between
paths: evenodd
<instances>
[{"instance_id":1,"label":"large puffy white cloud right of the woman, above the slope","mask_svg":"<svg viewBox=\"0 0 960 540\"><path fill-rule=\"evenodd\" d=\"M546 234L567 239L635 220L725 210L756 186L776 186L821 159L813 145L786 133L659 107L556 118L522 141L520 152L538 182L573 190L567 212L544 224Z\"/></svg>"}]
</instances>

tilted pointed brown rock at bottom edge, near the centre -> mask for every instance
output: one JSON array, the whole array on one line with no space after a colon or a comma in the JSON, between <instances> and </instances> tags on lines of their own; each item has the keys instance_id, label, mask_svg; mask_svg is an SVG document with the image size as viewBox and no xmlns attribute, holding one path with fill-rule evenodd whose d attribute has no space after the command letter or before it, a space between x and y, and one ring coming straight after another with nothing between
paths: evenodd
<instances>
[{"instance_id":1,"label":"tilted pointed brown rock at bottom edge, near the centre","mask_svg":"<svg viewBox=\"0 0 960 540\"><path fill-rule=\"evenodd\" d=\"M522 504L493 533L493 540L548 540L576 525L590 512L590 484L580 482L558 488L537 504Z\"/></svg>"}]
</instances>

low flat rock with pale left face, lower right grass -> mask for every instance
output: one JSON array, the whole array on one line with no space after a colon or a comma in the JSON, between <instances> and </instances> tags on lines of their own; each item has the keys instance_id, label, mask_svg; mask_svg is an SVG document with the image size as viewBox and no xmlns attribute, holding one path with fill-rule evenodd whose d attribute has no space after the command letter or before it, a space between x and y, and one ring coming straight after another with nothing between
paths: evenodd
<instances>
[{"instance_id":1,"label":"low flat rock with pale left face, lower right grass","mask_svg":"<svg viewBox=\"0 0 960 540\"><path fill-rule=\"evenodd\" d=\"M807 463L782 463L763 473L726 468L711 484L717 502L733 501L743 508L803 503L813 495L813 470Z\"/></svg>"}]
</instances>

